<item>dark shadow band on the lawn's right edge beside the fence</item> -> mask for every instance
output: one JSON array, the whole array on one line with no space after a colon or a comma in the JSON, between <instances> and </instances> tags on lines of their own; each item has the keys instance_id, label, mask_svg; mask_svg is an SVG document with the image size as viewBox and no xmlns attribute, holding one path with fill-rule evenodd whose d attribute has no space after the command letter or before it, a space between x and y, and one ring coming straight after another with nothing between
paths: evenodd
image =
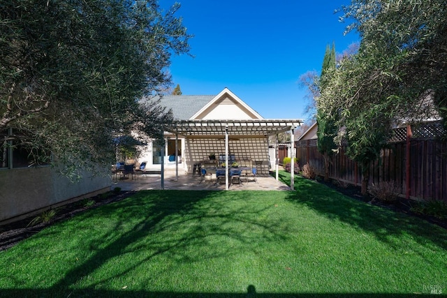
<instances>
[{"instance_id":1,"label":"dark shadow band on the lawn's right edge beside the fence","mask_svg":"<svg viewBox=\"0 0 447 298\"><path fill-rule=\"evenodd\" d=\"M279 173L279 179L287 183L290 177ZM317 181L295 177L295 192L291 192L288 200L305 205L331 220L372 233L393 248L402 249L402 243L396 243L393 236L409 234L421 245L430 243L447 249L447 232L444 228L415 216L354 200Z\"/></svg>"}]
</instances>

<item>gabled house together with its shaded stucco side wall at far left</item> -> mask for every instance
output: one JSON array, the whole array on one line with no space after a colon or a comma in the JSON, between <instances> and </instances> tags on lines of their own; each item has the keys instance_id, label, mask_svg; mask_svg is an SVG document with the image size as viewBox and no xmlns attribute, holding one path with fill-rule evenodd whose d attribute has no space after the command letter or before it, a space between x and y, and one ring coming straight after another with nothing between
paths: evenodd
<instances>
[{"instance_id":1,"label":"gabled house together with its shaded stucco side wall at far left","mask_svg":"<svg viewBox=\"0 0 447 298\"><path fill-rule=\"evenodd\" d=\"M259 175L266 175L269 136L293 131L302 123L300 119L264 119L227 88L215 96L163 96L161 105L173 111L175 121L166 126L163 142L150 140L142 147L137 163L159 170L161 163L170 163L186 174L214 153L252 163ZM9 147L0 159L0 224L110 190L110 175L86 172L72 183L50 165L29 167L18 157Z\"/></svg>"}]
</instances>

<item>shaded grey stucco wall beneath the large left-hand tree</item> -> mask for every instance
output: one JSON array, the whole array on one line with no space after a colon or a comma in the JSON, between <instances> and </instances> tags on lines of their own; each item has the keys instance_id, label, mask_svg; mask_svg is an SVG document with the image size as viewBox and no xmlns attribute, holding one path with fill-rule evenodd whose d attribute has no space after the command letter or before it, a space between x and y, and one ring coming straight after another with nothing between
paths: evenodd
<instances>
[{"instance_id":1,"label":"shaded grey stucco wall beneath the large left-hand tree","mask_svg":"<svg viewBox=\"0 0 447 298\"><path fill-rule=\"evenodd\" d=\"M12 133L8 128L0 131L0 137ZM29 166L28 154L20 149L3 147L1 154L0 224L110 190L108 169L96 177L85 172L78 183L73 183L50 165Z\"/></svg>"}]
</instances>

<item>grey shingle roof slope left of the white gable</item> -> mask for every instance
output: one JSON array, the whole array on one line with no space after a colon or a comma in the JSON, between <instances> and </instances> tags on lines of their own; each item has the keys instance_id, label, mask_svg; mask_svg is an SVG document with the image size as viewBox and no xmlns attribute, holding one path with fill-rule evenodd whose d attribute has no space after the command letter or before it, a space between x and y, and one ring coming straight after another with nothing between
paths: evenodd
<instances>
[{"instance_id":1,"label":"grey shingle roof slope left of the white gable","mask_svg":"<svg viewBox=\"0 0 447 298\"><path fill-rule=\"evenodd\" d=\"M161 97L160 104L173 110L174 119L189 120L215 95L167 95Z\"/></svg>"}]
</instances>

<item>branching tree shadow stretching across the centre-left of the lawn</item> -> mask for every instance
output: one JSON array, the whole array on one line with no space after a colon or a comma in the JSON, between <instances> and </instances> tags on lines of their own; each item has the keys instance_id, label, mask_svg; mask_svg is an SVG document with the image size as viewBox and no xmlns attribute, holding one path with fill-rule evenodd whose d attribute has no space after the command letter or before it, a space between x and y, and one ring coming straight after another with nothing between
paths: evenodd
<instances>
[{"instance_id":1,"label":"branching tree shadow stretching across the centre-left of the lawn","mask_svg":"<svg viewBox=\"0 0 447 298\"><path fill-rule=\"evenodd\" d=\"M215 242L208 243L210 237L232 239L235 243L243 244L242 246L253 250L257 249L256 245L260 242L284 239L284 229L278 228L277 221L265 223L265 221L256 220L256 214L262 213L267 207L228 209L226 203L234 199L228 196L221 198L219 193L216 191L140 191L121 202L82 214L81 216L86 217L110 218L110 222L114 224L108 228L108 234L84 239L83 246L93 253L82 264L61 277L52 289L56 292L62 291L65 295L66 289L79 283L82 278L89 276L110 260L126 254L140 255L138 255L138 260L131 260L119 271L110 272L100 281L89 285L89 290L86 289L86 292L128 274L157 255L166 254L175 258L176 262L192 263L240 253L231 246L219 246L212 250L201 249L207 245L216 246ZM212 200L216 195L219 200L213 200L213 208L210 209L206 201ZM147 197L149 197L149 202ZM129 223L129 219L132 223ZM82 218L79 224L82 225ZM99 224L103 223L100 221ZM253 234L248 231L241 232L238 225L260 232ZM184 230L185 226L188 227L186 230ZM177 233L178 230L180 232ZM163 234L164 237L157 236L159 234ZM194 247L197 250L191 251ZM149 283L148 280L147 284Z\"/></svg>"}]
</instances>

